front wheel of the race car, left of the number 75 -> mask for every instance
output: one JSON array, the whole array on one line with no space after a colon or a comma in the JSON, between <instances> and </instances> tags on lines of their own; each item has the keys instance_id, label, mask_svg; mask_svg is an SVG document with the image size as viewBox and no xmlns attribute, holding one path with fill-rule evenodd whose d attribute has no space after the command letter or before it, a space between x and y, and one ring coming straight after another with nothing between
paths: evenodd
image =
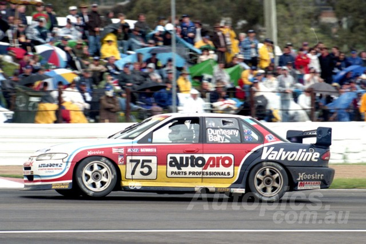
<instances>
[{"instance_id":1,"label":"front wheel of the race car, left of the number 75","mask_svg":"<svg viewBox=\"0 0 366 244\"><path fill-rule=\"evenodd\" d=\"M76 184L83 196L100 198L111 193L117 182L116 169L109 159L93 156L76 168Z\"/></svg>"}]
</instances>

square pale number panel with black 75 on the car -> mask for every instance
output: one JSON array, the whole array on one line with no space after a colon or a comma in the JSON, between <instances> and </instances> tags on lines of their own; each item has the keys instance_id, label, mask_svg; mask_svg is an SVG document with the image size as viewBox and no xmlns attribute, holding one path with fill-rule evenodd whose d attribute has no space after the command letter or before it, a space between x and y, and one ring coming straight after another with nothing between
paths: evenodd
<instances>
[{"instance_id":1,"label":"square pale number panel with black 75 on the car","mask_svg":"<svg viewBox=\"0 0 366 244\"><path fill-rule=\"evenodd\" d=\"M127 156L126 162L126 179L156 179L156 156Z\"/></svg>"}]
</instances>

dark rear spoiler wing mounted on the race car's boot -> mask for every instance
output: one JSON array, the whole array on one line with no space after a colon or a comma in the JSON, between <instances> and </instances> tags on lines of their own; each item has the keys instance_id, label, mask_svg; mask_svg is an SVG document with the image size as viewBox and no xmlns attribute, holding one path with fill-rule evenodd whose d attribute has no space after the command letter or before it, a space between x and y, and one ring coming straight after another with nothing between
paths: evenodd
<instances>
[{"instance_id":1,"label":"dark rear spoiler wing mounted on the race car's boot","mask_svg":"<svg viewBox=\"0 0 366 244\"><path fill-rule=\"evenodd\" d=\"M332 128L318 127L312 131L287 131L286 139L294 143L302 143L303 138L316 137L315 146L329 147L332 144Z\"/></svg>"}]
</instances>

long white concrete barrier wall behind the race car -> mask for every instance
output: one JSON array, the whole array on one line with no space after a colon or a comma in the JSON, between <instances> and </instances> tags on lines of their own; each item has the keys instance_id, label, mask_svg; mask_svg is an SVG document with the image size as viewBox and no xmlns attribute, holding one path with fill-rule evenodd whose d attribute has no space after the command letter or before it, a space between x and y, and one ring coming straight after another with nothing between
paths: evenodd
<instances>
[{"instance_id":1,"label":"long white concrete barrier wall behind the race car","mask_svg":"<svg viewBox=\"0 0 366 244\"><path fill-rule=\"evenodd\" d=\"M317 127L332 128L330 163L366 162L365 122L297 122L265 123L285 137L289 129L311 130ZM91 124L0 124L0 165L23 165L38 149L64 142L107 138L131 123ZM304 143L313 143L308 138Z\"/></svg>"}]
</instances>

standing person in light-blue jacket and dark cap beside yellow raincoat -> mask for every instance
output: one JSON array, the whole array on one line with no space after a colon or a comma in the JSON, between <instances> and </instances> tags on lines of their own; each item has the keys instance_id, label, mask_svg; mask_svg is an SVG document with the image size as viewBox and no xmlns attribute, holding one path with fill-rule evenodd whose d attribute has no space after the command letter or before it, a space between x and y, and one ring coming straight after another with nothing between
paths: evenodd
<instances>
[{"instance_id":1,"label":"standing person in light-blue jacket and dark cap beside yellow raincoat","mask_svg":"<svg viewBox=\"0 0 366 244\"><path fill-rule=\"evenodd\" d=\"M242 43L244 63L249 66L258 66L258 40L255 38L255 31L249 30L248 36Z\"/></svg>"}]
</instances>

